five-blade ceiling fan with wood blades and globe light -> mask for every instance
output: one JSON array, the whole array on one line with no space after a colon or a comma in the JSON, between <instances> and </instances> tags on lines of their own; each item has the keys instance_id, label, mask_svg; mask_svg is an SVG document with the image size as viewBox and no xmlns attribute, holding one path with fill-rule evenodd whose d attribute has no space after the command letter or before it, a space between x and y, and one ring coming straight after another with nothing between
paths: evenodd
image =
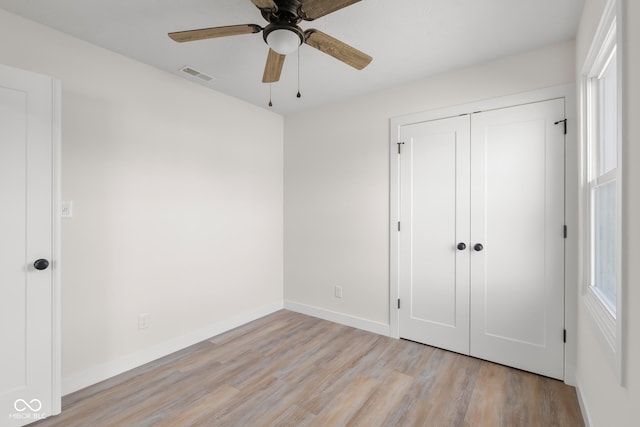
<instances>
[{"instance_id":1,"label":"five-blade ceiling fan with wood blades and globe light","mask_svg":"<svg viewBox=\"0 0 640 427\"><path fill-rule=\"evenodd\" d=\"M262 31L262 37L269 46L267 64L262 76L263 83L280 80L285 56L294 52L302 43L331 55L358 70L372 61L372 57L360 52L321 31L302 30L300 21L313 21L337 10L351 6L360 0L251 0L260 9L262 17L269 22L266 27L256 24L229 25L203 28L199 30L169 33L177 42L190 42L217 37L252 34Z\"/></svg>"}]
</instances>

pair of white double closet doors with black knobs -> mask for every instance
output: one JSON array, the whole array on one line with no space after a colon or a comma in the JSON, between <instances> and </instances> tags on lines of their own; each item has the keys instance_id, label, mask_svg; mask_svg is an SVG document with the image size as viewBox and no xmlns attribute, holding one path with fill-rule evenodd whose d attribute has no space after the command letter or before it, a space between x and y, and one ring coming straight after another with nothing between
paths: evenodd
<instances>
[{"instance_id":1,"label":"pair of white double closet doors with black knobs","mask_svg":"<svg viewBox=\"0 0 640 427\"><path fill-rule=\"evenodd\" d=\"M563 378L562 118L558 99L401 126L402 338Z\"/></svg>"}]
</instances>

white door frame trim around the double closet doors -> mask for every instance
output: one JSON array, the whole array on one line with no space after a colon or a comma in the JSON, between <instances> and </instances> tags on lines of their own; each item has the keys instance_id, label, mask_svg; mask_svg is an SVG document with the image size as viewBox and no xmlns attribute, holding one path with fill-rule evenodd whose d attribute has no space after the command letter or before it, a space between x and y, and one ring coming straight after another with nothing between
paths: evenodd
<instances>
[{"instance_id":1,"label":"white door frame trim around the double closet doors","mask_svg":"<svg viewBox=\"0 0 640 427\"><path fill-rule=\"evenodd\" d=\"M577 338L577 302L578 302L578 193L579 147L577 130L576 87L574 84L507 95L453 107L440 108L392 117L389 125L389 335L400 338L398 298L400 286L400 239L398 222L400 221L400 157L398 142L400 128L412 123L445 119L479 111L496 110L539 101L564 98L567 135L565 137L565 224L568 228L565 241L565 306L564 319L567 330L567 342L564 356L564 382L575 385L575 361Z\"/></svg>"}]
</instances>

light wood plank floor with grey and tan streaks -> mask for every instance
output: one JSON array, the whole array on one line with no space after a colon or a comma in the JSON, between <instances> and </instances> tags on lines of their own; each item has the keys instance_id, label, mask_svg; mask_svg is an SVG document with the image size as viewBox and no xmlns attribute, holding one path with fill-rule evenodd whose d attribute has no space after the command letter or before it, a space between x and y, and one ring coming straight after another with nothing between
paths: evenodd
<instances>
[{"instance_id":1,"label":"light wood plank floor with grey and tan streaks","mask_svg":"<svg viewBox=\"0 0 640 427\"><path fill-rule=\"evenodd\" d=\"M63 399L38 427L582 426L572 387L279 311Z\"/></svg>"}]
</instances>

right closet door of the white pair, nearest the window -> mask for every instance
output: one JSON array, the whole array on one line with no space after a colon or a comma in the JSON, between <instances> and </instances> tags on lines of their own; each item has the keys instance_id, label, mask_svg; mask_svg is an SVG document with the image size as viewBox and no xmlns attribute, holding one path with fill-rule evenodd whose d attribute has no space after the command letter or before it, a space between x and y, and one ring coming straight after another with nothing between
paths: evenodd
<instances>
[{"instance_id":1,"label":"right closet door of the white pair, nearest the window","mask_svg":"<svg viewBox=\"0 0 640 427\"><path fill-rule=\"evenodd\" d=\"M558 99L471 118L471 355L554 378L564 358L564 132L554 122L564 114Z\"/></svg>"}]
</instances>

